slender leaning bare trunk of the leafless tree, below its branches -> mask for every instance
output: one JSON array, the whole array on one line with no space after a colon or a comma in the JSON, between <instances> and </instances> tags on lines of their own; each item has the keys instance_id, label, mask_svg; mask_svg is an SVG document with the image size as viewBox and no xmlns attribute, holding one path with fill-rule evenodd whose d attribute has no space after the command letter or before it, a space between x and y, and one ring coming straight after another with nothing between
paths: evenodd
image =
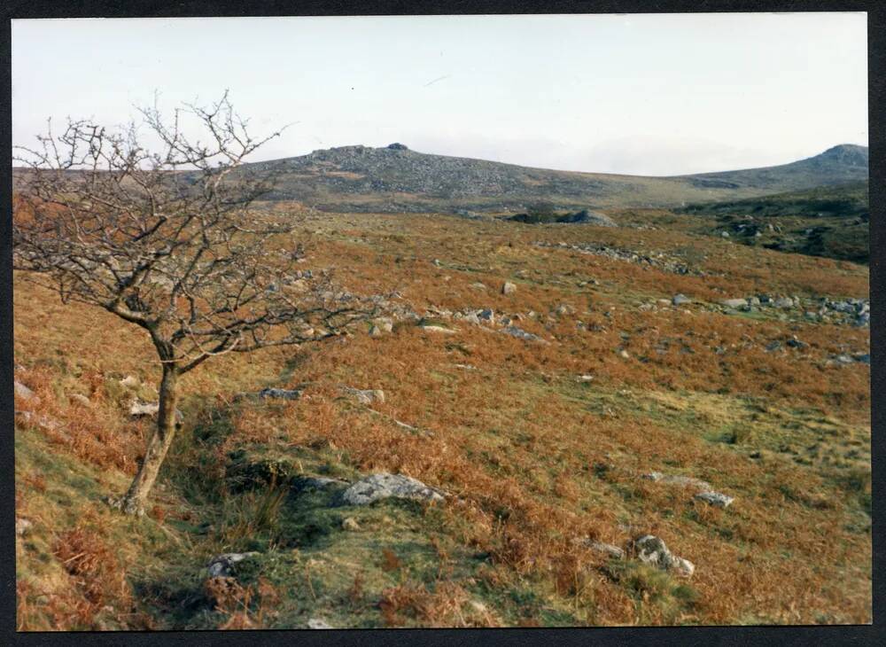
<instances>
[{"instance_id":1,"label":"slender leaning bare trunk of the leafless tree, below its branches","mask_svg":"<svg viewBox=\"0 0 886 647\"><path fill-rule=\"evenodd\" d=\"M148 440L144 461L126 495L115 503L116 507L128 514L144 514L151 487L157 479L160 465L166 458L172 439L175 437L175 404L178 402L178 372L174 364L163 364L163 379L160 381L159 411L157 427Z\"/></svg>"}]
</instances>

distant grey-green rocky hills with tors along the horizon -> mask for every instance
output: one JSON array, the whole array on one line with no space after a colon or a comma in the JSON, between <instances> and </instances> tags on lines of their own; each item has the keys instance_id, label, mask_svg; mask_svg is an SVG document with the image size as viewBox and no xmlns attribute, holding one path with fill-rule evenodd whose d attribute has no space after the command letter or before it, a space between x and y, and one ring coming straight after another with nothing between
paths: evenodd
<instances>
[{"instance_id":1,"label":"distant grey-green rocky hills with tors along the horizon","mask_svg":"<svg viewBox=\"0 0 886 647\"><path fill-rule=\"evenodd\" d=\"M323 210L452 213L521 211L539 201L564 209L672 207L867 179L867 148L835 146L770 168L675 177L572 173L431 155L403 144L344 146L246 165L279 173L274 200Z\"/></svg>"}]
</instances>

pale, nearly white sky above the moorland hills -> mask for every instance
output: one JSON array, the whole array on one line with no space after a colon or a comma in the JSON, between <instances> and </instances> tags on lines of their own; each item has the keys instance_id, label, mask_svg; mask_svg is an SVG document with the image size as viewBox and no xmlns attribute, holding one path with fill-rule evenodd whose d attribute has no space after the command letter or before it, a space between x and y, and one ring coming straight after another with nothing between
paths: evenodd
<instances>
[{"instance_id":1,"label":"pale, nearly white sky above the moorland hills","mask_svg":"<svg viewBox=\"0 0 886 647\"><path fill-rule=\"evenodd\" d=\"M12 20L12 139L229 90L272 160L400 142L680 175L867 145L859 12Z\"/></svg>"}]
</instances>

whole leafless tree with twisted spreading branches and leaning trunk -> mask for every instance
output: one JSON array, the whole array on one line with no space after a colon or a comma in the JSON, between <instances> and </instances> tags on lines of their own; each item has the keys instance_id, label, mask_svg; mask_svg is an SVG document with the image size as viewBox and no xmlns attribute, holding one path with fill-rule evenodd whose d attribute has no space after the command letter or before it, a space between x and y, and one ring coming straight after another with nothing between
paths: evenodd
<instances>
[{"instance_id":1,"label":"whole leafless tree with twisted spreading branches and leaning trunk","mask_svg":"<svg viewBox=\"0 0 886 647\"><path fill-rule=\"evenodd\" d=\"M252 173L253 139L227 93L166 121L111 132L68 121L61 135L17 147L14 267L64 302L105 308L144 328L160 364L157 426L136 478L113 503L141 513L175 436L178 379L211 357L345 333L377 315L382 297L339 289L329 270L296 269L295 223L257 210L270 170ZM198 125L206 143L185 132ZM190 129L189 129L190 132Z\"/></svg>"}]
</instances>

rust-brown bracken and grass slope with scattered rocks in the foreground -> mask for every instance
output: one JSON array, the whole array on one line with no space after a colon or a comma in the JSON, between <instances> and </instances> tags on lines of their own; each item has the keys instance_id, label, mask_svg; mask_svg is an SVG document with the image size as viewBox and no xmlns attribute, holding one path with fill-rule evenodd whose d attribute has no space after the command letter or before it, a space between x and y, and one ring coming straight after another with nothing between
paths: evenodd
<instances>
[{"instance_id":1,"label":"rust-brown bracken and grass slope with scattered rocks in the foreground","mask_svg":"<svg viewBox=\"0 0 886 647\"><path fill-rule=\"evenodd\" d=\"M151 341L16 273L18 628L870 622L867 267L614 217L307 214L390 325L187 374L144 518ZM445 498L343 501L377 472Z\"/></svg>"}]
</instances>

